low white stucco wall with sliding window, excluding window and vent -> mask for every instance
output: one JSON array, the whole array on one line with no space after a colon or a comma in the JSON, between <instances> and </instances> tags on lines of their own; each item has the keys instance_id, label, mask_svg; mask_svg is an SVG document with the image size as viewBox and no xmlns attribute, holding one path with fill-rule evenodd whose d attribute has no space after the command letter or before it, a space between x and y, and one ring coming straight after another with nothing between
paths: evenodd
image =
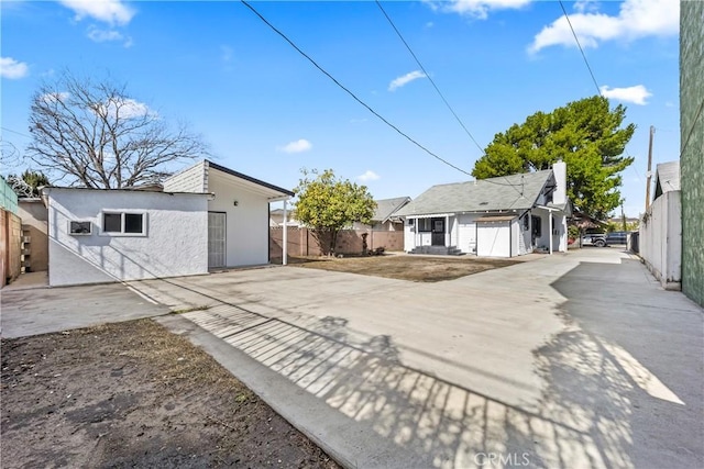
<instances>
[{"instance_id":1,"label":"low white stucco wall with sliding window, excluding window and vent","mask_svg":"<svg viewBox=\"0 0 704 469\"><path fill-rule=\"evenodd\" d=\"M85 189L47 190L50 286L208 272L207 196ZM145 236L100 233L103 210L144 212ZM69 221L90 221L74 236Z\"/></svg>"}]
</instances>

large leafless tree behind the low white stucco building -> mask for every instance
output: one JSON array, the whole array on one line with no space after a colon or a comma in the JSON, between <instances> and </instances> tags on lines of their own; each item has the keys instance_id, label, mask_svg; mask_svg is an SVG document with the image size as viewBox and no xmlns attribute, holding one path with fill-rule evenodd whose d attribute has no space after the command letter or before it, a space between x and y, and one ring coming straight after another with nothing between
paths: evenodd
<instances>
[{"instance_id":1,"label":"large leafless tree behind the low white stucco building","mask_svg":"<svg viewBox=\"0 0 704 469\"><path fill-rule=\"evenodd\" d=\"M55 180L89 188L158 182L173 164L205 155L185 124L172 130L124 86L64 72L32 98L28 156Z\"/></svg>"}]
</instances>

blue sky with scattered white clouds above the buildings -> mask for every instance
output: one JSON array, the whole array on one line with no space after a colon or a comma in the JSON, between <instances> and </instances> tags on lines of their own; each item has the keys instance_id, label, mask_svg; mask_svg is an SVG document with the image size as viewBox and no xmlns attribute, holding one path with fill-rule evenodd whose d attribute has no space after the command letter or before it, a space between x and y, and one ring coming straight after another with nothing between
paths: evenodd
<instances>
[{"instance_id":1,"label":"blue sky with scattered white clouds above the buildings","mask_svg":"<svg viewBox=\"0 0 704 469\"><path fill-rule=\"evenodd\" d=\"M337 80L418 143L470 172L482 155L373 1L252 5ZM387 14L482 147L536 111L596 93L559 2L393 1ZM628 215L653 160L679 157L679 2L564 2L602 92L638 126L624 172ZM20 150L30 100L64 69L127 83L215 160L293 188L332 168L375 198L471 179L380 121L242 3L2 1L2 139ZM653 166L654 168L654 166ZM3 167L2 174L15 169Z\"/></svg>"}]
</instances>

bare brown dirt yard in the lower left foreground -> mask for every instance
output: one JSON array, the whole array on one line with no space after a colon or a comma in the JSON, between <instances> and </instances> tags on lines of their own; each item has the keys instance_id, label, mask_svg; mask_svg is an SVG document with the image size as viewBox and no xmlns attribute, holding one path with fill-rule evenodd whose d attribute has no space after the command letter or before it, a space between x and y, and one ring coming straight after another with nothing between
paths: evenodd
<instances>
[{"instance_id":1,"label":"bare brown dirt yard in the lower left foreground","mask_svg":"<svg viewBox=\"0 0 704 469\"><path fill-rule=\"evenodd\" d=\"M338 468L151 320L2 344L0 467Z\"/></svg>"}]
</instances>

